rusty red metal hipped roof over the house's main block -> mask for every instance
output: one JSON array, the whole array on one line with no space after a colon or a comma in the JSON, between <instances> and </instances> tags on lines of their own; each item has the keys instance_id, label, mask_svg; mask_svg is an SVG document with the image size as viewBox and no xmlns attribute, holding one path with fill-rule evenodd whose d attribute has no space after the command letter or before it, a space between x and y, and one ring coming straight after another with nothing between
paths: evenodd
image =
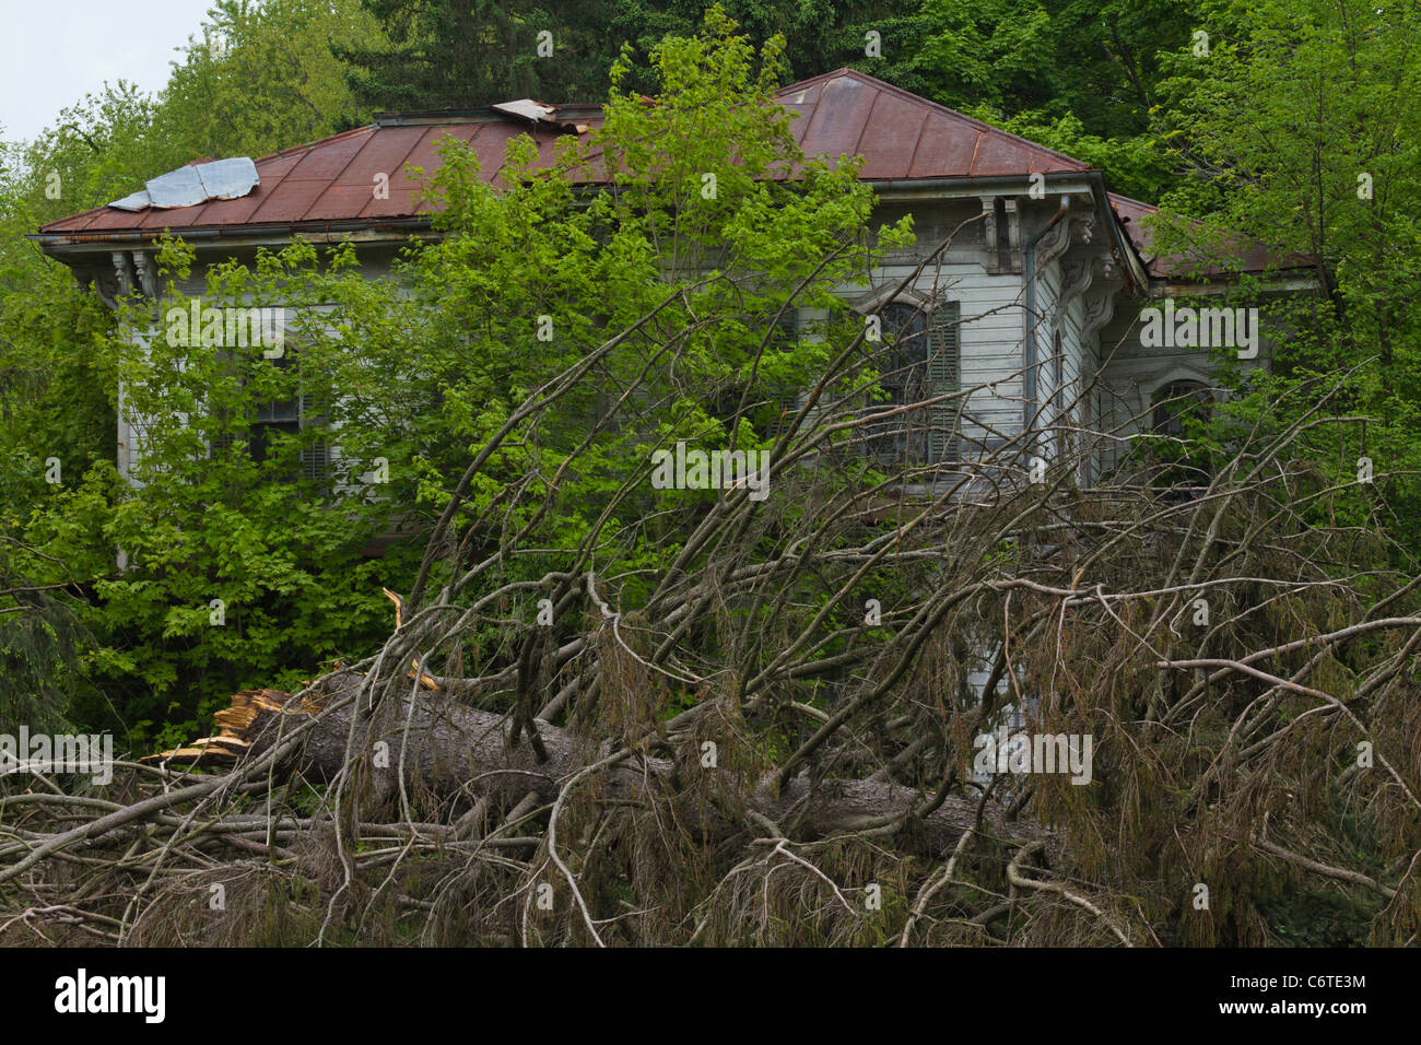
<instances>
[{"instance_id":1,"label":"rusty red metal hipped roof over the house's main block","mask_svg":"<svg viewBox=\"0 0 1421 1045\"><path fill-rule=\"evenodd\" d=\"M786 87L777 98L799 114L791 127L806 155L863 155L861 176L870 181L999 178L1090 169L1070 156L850 68ZM558 112L558 107L544 108ZM577 122L595 128L601 118L593 108ZM540 165L551 164L553 142L567 134L568 127L520 118L507 104L475 115L391 118L263 156L256 161L260 185L239 199L138 213L101 206L51 222L40 232L234 232L328 222L377 225L418 218L432 208L421 203L419 185L406 166L431 173L439 164L435 144L445 135L472 145L479 156L480 178L492 182L503 168L510 138L530 135L539 146ZM388 198L375 198L377 175L388 178ZM604 179L600 171L590 171L585 178L593 183Z\"/></svg>"}]
</instances>

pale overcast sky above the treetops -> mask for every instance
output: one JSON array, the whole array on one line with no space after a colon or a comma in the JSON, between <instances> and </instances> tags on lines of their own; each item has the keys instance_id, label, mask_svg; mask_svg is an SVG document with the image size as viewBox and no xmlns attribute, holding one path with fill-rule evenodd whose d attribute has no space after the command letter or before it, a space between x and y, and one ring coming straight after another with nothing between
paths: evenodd
<instances>
[{"instance_id":1,"label":"pale overcast sky above the treetops","mask_svg":"<svg viewBox=\"0 0 1421 1045\"><path fill-rule=\"evenodd\" d=\"M0 138L34 138L104 81L156 94L212 0L0 0Z\"/></svg>"}]
</instances>

